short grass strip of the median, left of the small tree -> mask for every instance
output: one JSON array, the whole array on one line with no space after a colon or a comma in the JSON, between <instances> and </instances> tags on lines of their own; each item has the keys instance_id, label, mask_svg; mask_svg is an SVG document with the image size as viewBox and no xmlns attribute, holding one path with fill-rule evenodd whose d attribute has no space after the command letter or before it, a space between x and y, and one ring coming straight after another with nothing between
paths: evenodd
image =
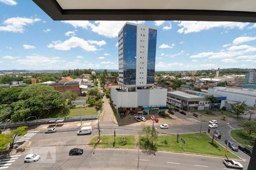
<instances>
[{"instance_id":1,"label":"short grass strip of the median, left of the small tree","mask_svg":"<svg viewBox=\"0 0 256 170\"><path fill-rule=\"evenodd\" d=\"M122 135L115 136L115 148L134 148L135 138L132 135L125 135L127 140L126 145L122 145ZM93 137L90 141L90 145L94 145L98 140L98 137ZM96 148L114 148L114 135L102 135L101 142L95 146Z\"/></svg>"}]
</instances>

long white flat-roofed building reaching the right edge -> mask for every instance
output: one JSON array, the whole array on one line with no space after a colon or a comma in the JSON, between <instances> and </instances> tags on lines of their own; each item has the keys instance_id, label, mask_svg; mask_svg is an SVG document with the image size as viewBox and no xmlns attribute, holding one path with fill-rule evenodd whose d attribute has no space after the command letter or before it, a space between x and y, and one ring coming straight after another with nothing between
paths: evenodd
<instances>
[{"instance_id":1,"label":"long white flat-roofed building reaching the right edge","mask_svg":"<svg viewBox=\"0 0 256 170\"><path fill-rule=\"evenodd\" d=\"M250 89L214 87L209 88L208 93L212 95L226 96L226 108L230 108L230 104L245 101L249 107L254 107L256 103L256 91Z\"/></svg>"}]
</instances>

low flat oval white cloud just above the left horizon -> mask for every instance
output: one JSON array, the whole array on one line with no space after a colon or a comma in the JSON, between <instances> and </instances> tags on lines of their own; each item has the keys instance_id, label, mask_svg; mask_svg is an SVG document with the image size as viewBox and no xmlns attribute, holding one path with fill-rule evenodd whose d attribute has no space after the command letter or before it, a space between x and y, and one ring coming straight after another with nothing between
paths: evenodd
<instances>
[{"instance_id":1,"label":"low flat oval white cloud just above the left horizon","mask_svg":"<svg viewBox=\"0 0 256 170\"><path fill-rule=\"evenodd\" d=\"M26 56L23 59L17 59L16 63L21 65L31 65L31 66L42 66L42 65L52 65L61 62L59 58L55 57L44 57L38 54L32 54L31 56Z\"/></svg>"}]
</instances>

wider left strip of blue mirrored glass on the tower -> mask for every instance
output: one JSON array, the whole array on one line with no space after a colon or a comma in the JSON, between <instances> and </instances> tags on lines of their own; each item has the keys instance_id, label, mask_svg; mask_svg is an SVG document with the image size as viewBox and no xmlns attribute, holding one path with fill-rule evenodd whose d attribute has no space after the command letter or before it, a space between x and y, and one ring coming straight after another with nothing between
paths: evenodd
<instances>
[{"instance_id":1,"label":"wider left strip of blue mirrored glass on the tower","mask_svg":"<svg viewBox=\"0 0 256 170\"><path fill-rule=\"evenodd\" d=\"M136 84L137 26L123 27L123 84Z\"/></svg>"}]
</instances>

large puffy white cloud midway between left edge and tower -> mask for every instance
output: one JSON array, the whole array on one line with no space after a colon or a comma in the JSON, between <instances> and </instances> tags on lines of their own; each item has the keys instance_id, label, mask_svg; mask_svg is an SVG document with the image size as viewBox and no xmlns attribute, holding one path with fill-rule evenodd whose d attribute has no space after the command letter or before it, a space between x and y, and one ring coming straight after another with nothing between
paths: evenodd
<instances>
[{"instance_id":1,"label":"large puffy white cloud midway between left edge and tower","mask_svg":"<svg viewBox=\"0 0 256 170\"><path fill-rule=\"evenodd\" d=\"M88 41L80 39L79 37L71 37L63 42L52 41L52 43L48 44L48 48L54 48L57 50L70 50L71 48L77 47L80 47L87 52L95 52L97 50L94 45L90 45Z\"/></svg>"}]
</instances>

